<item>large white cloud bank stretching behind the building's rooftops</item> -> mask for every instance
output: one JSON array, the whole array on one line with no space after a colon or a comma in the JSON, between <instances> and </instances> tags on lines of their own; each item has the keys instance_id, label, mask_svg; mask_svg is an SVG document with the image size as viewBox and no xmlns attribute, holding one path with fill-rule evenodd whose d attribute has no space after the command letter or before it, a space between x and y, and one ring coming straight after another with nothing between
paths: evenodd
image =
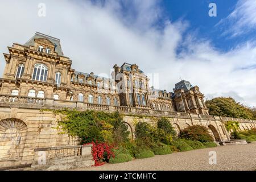
<instances>
[{"instance_id":1,"label":"large white cloud bank stretching behind the building's rooftops","mask_svg":"<svg viewBox=\"0 0 256 182\"><path fill-rule=\"evenodd\" d=\"M60 38L72 68L95 74L110 73L114 64L136 63L146 73L159 73L160 89L172 91L180 80L198 85L207 98L233 96L256 105L256 48L246 43L220 52L211 42L195 35L184 37L188 22L166 20L158 1L117 1L105 5L88 1L44 1L45 18L39 18L40 1L4 1L0 6L0 52L17 42L25 43L35 31ZM79 4L78 4L79 3ZM14 6L15 5L15 6ZM186 51L176 54L182 44ZM0 61L0 73L5 61ZM2 75L2 74L1 74Z\"/></svg>"}]
</instances>

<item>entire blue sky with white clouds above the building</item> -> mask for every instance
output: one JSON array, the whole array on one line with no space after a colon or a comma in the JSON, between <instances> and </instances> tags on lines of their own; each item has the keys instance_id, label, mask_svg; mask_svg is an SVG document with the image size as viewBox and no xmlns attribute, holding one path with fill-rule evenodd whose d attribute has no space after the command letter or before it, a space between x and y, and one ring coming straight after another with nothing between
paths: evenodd
<instances>
[{"instance_id":1,"label":"entire blue sky with white clouds above the building","mask_svg":"<svg viewBox=\"0 0 256 182\"><path fill-rule=\"evenodd\" d=\"M0 24L0 52L38 31L60 39L77 71L107 77L114 64L136 63L155 88L171 92L183 78L205 99L256 106L255 0L10 0L0 2ZM0 56L0 75L4 67Z\"/></svg>"}]
</instances>

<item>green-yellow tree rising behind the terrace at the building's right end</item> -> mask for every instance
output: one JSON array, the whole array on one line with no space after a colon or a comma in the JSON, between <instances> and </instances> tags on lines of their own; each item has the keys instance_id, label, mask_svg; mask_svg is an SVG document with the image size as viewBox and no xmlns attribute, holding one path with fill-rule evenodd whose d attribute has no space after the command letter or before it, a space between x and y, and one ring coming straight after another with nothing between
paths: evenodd
<instances>
[{"instance_id":1,"label":"green-yellow tree rising behind the terrace at the building's right end","mask_svg":"<svg viewBox=\"0 0 256 182\"><path fill-rule=\"evenodd\" d=\"M256 115L249 107L236 102L232 97L216 97L205 102L210 115L233 118L255 119Z\"/></svg>"}]
</instances>

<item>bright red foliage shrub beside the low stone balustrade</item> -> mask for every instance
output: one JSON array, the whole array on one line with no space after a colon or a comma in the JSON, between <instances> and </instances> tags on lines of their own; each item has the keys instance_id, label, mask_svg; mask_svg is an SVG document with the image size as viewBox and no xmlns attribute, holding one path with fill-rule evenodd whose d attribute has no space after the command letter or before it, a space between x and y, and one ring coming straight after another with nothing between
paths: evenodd
<instances>
[{"instance_id":1,"label":"bright red foliage shrub beside the low stone balustrade","mask_svg":"<svg viewBox=\"0 0 256 182\"><path fill-rule=\"evenodd\" d=\"M112 157L114 158L114 152L113 148L114 146L110 146L107 143L86 143L87 144L92 144L92 155L93 155L93 160L95 162L94 166L101 166L105 162L108 162L108 160Z\"/></svg>"}]
</instances>

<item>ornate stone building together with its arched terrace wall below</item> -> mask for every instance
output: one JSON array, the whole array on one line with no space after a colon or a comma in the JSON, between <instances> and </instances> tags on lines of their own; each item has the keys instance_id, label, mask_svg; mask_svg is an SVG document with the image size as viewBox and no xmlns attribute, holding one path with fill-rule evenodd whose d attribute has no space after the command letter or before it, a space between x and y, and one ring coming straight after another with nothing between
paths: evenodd
<instances>
[{"instance_id":1,"label":"ornate stone building together with its arched terrace wall below","mask_svg":"<svg viewBox=\"0 0 256 182\"><path fill-rule=\"evenodd\" d=\"M220 144L233 143L226 121L238 121L241 131L256 127L250 119L209 115L204 95L188 81L178 82L169 93L150 88L148 77L136 64L114 65L112 78L77 72L63 55L60 40L51 36L36 32L27 43L8 48L0 78L0 170L93 164L90 146L77 146L76 137L60 133L61 115L48 109L119 111L131 137L134 121L154 125L160 117L168 118L177 133L192 125L208 127ZM46 154L43 165L39 164L42 154Z\"/></svg>"}]
</instances>

